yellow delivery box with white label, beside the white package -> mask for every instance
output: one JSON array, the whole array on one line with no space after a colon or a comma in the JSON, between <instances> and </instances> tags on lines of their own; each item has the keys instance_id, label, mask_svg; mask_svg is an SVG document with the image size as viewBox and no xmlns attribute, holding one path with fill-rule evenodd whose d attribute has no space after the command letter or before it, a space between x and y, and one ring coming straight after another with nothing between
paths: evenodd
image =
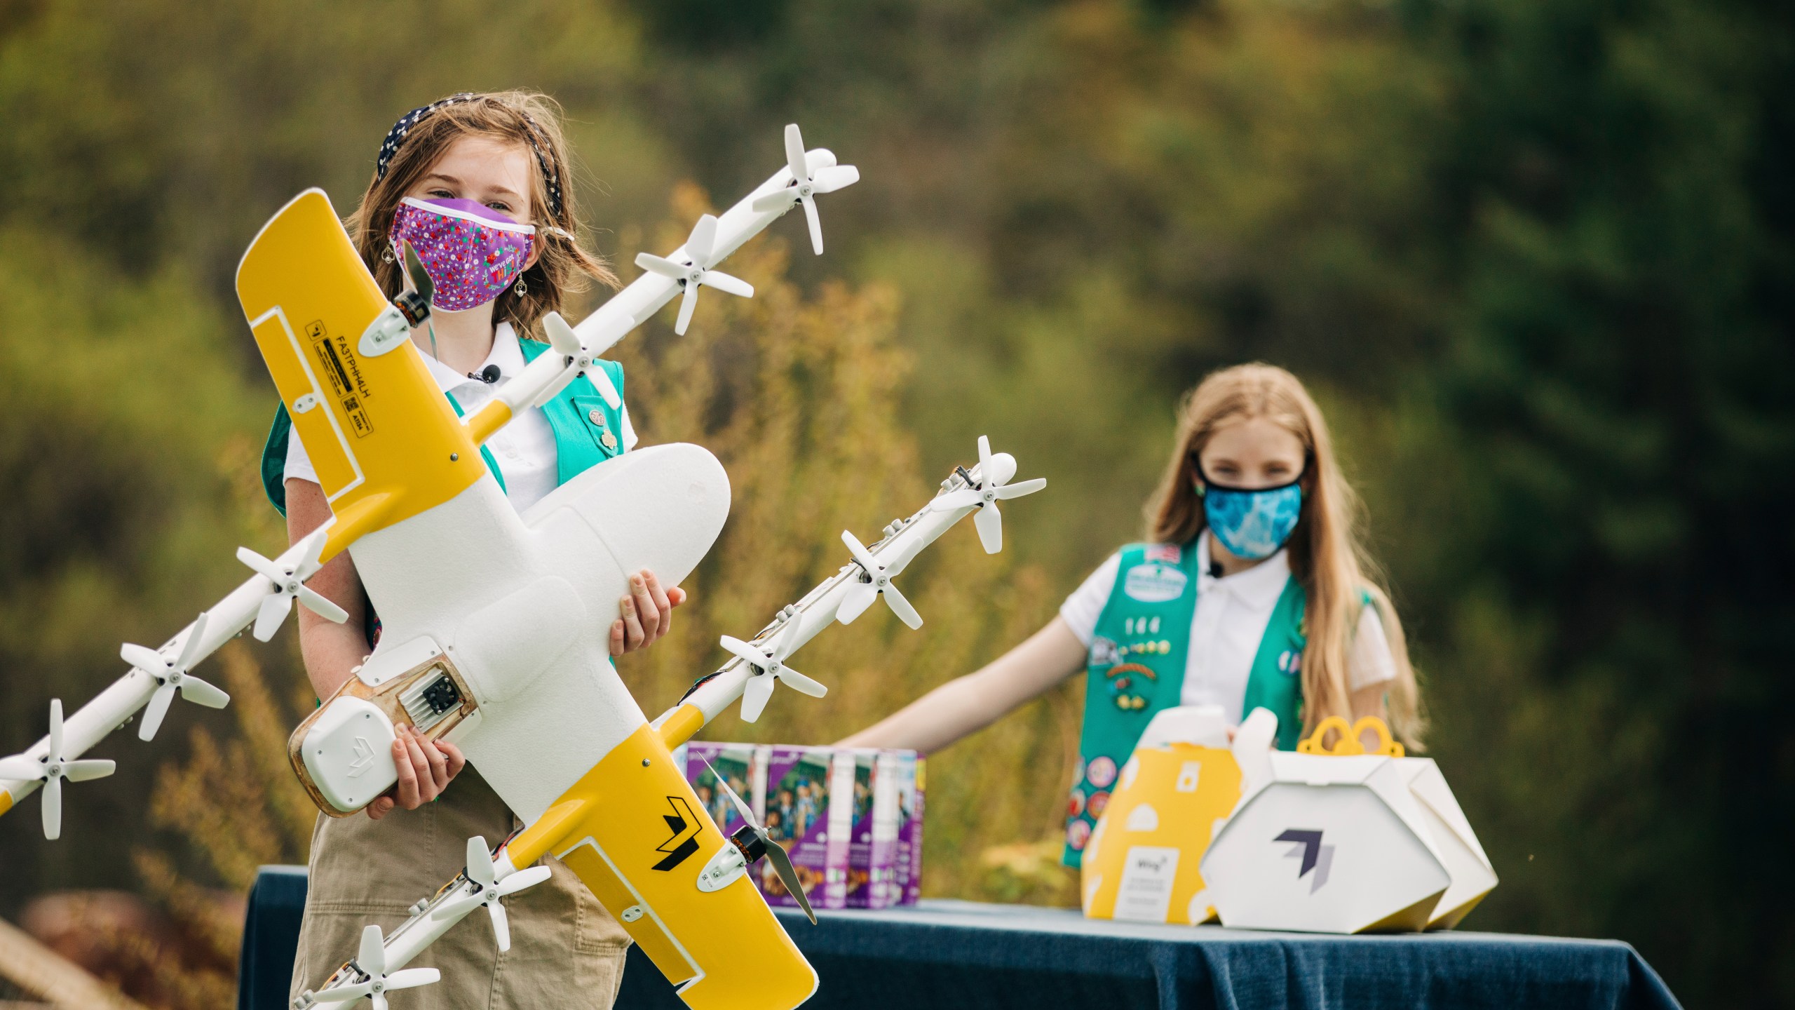
<instances>
[{"instance_id":1,"label":"yellow delivery box with white label, beside the white package","mask_svg":"<svg viewBox=\"0 0 1795 1010\"><path fill-rule=\"evenodd\" d=\"M1084 915L1210 922L1215 909L1199 863L1212 828L1239 798L1240 766L1228 749L1221 706L1185 704L1156 713L1084 845Z\"/></svg>"}]
</instances>

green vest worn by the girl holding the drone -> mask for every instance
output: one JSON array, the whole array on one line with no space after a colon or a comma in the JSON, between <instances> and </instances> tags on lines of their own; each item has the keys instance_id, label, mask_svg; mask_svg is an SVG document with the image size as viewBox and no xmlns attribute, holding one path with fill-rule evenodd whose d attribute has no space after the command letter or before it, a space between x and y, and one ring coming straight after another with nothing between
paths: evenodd
<instances>
[{"instance_id":1,"label":"green vest worn by the girl holding the drone","mask_svg":"<svg viewBox=\"0 0 1795 1010\"><path fill-rule=\"evenodd\" d=\"M524 352L524 363L535 361L549 349L538 340L519 340L517 347ZM610 376L610 385L617 388L621 397L623 365L598 361L598 367ZM443 395L454 406L456 417L461 417L461 404L452 395ZM555 431L556 483L567 483L594 464L623 455L623 408L607 404L605 397L598 395L598 386L585 376L567 383L562 392L555 394L555 399L542 404L542 413L547 415L549 428ZM282 516L287 514L285 471L291 433L293 419L287 417L287 404L280 404L275 408L275 424L267 430L267 444L262 447L262 491L267 492L267 500ZM486 469L492 471L499 487L504 487L499 462L492 458L486 446L479 447L479 458L486 460Z\"/></svg>"}]
</instances>

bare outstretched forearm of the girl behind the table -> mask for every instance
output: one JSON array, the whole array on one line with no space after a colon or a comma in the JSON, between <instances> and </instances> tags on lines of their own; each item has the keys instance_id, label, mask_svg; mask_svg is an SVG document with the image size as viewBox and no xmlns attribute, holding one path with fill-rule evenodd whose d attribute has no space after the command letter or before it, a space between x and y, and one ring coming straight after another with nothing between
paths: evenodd
<instances>
[{"instance_id":1,"label":"bare outstretched forearm of the girl behind the table","mask_svg":"<svg viewBox=\"0 0 1795 1010\"><path fill-rule=\"evenodd\" d=\"M1084 645L1066 622L1055 616L989 665L937 687L876 726L840 740L838 746L939 751L1046 694L1082 669Z\"/></svg>"}]
</instances>

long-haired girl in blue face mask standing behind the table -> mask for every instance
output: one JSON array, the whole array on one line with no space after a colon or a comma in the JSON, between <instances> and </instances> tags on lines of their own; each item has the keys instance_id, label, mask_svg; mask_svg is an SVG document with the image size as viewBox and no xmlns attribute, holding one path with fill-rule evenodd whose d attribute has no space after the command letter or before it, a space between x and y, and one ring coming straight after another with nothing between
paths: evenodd
<instances>
[{"instance_id":1,"label":"long-haired girl in blue face mask standing behind the table","mask_svg":"<svg viewBox=\"0 0 1795 1010\"><path fill-rule=\"evenodd\" d=\"M1414 672L1355 512L1296 376L1271 365L1213 372L1179 408L1145 509L1149 543L1111 554L1021 645L842 746L937 751L1084 670L1068 866L1163 708L1215 704L1231 724L1269 708L1283 749L1328 715L1379 715L1414 748Z\"/></svg>"}]
</instances>

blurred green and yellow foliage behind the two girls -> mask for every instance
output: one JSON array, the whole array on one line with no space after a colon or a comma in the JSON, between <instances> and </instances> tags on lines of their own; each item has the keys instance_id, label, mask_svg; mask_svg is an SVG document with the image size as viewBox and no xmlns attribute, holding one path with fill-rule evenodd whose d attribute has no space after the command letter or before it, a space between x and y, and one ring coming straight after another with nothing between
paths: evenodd
<instances>
[{"instance_id":1,"label":"blurred green and yellow foliage behind the two girls","mask_svg":"<svg viewBox=\"0 0 1795 1010\"><path fill-rule=\"evenodd\" d=\"M1274 361L1339 430L1431 753L1502 877L1468 926L1619 936L1691 1006L1795 1005L1791 22L1770 0L0 0L5 748L115 678L120 640L235 584L235 545L282 543L246 480L275 397L230 279L298 189L346 210L402 111L533 86L567 108L587 237L626 262L677 244L702 205L677 183L731 203L797 120L863 182L824 201L827 257L790 219L790 264L756 255L874 334L840 347L905 361L833 394L890 424L854 430L892 442L856 458L899 467L849 521L921 503L978 433L1050 489L1007 510L1002 559L937 548L955 616L924 606L923 636L946 638L856 629L836 669L801 665L829 699L783 695L761 731L829 740L1012 643L1136 536L1179 392ZM772 325L718 302L695 329ZM670 340L659 320L623 350L662 397ZM648 408L644 439L723 431L700 413L662 431ZM790 474L763 509L804 500ZM793 588L838 532L817 525L765 527ZM734 602L695 624L768 616ZM278 697L293 652L255 652ZM713 652L625 672L653 708ZM932 767L932 891L1021 893L968 866L1054 832L1075 706ZM153 746L104 744L120 773L70 791L61 843L34 803L0 821L0 911L140 888L133 848L192 863L144 796L196 724L235 733L183 706Z\"/></svg>"}]
</instances>

